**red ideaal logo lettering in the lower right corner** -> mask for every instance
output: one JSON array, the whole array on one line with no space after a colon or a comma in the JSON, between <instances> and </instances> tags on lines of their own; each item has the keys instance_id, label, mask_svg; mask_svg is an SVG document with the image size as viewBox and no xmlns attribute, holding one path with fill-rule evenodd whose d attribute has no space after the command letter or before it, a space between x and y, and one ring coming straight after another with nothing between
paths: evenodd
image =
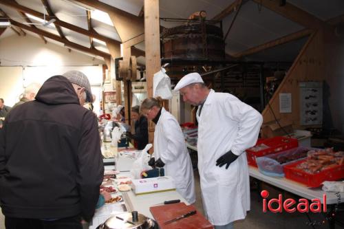
<instances>
[{"instance_id":1,"label":"red ideaal logo lettering in the lower right corner","mask_svg":"<svg viewBox=\"0 0 344 229\"><path fill-rule=\"evenodd\" d=\"M269 192L267 190L262 190L260 193L261 197L263 197L263 212L266 210L270 210L270 212L282 212L283 209L286 212L326 212L326 195L323 194L323 204L321 204L321 199L311 199L312 204L309 204L307 199L299 199L299 202L295 201L294 199L285 199L283 201L282 194L279 194L278 199L270 199L269 201L266 199L269 196ZM277 208L273 208L272 204L276 203ZM274 204L274 205L276 205ZM296 205L295 205L296 204ZM323 209L321 210L321 206Z\"/></svg>"}]
</instances>

